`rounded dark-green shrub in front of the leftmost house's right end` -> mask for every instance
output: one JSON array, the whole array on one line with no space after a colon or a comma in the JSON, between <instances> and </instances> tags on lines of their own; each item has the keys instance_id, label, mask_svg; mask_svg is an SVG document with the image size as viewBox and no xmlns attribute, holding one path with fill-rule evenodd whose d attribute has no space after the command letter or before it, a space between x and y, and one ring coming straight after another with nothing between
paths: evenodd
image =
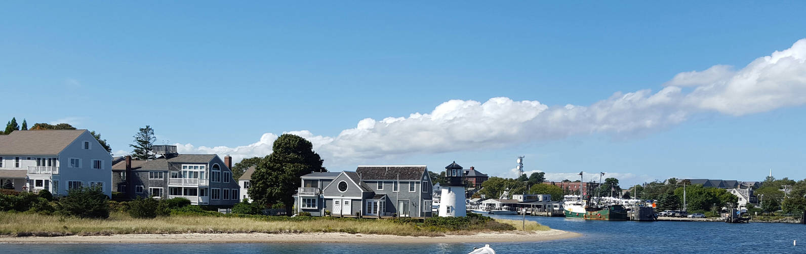
<instances>
[{"instance_id":1,"label":"rounded dark-green shrub in front of the leftmost house's right end","mask_svg":"<svg viewBox=\"0 0 806 254\"><path fill-rule=\"evenodd\" d=\"M70 189L61 198L57 210L60 214L78 218L109 218L109 201L100 188Z\"/></svg>"}]
</instances>

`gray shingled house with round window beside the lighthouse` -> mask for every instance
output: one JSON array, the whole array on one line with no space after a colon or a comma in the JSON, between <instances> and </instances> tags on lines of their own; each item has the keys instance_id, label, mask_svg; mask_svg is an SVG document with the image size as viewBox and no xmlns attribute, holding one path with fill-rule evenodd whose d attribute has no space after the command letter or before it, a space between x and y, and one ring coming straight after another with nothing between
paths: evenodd
<instances>
[{"instance_id":1,"label":"gray shingled house with round window beside the lighthouse","mask_svg":"<svg viewBox=\"0 0 806 254\"><path fill-rule=\"evenodd\" d=\"M425 165L310 173L301 177L295 207L314 216L430 217L432 186Z\"/></svg>"}]
</instances>

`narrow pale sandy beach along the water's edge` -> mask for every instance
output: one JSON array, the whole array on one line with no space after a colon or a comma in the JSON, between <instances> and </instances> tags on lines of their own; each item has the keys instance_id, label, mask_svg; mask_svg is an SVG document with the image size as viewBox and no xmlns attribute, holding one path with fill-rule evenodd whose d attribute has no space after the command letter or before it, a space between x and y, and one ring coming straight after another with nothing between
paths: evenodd
<instances>
[{"instance_id":1,"label":"narrow pale sandy beach along the water's edge","mask_svg":"<svg viewBox=\"0 0 806 254\"><path fill-rule=\"evenodd\" d=\"M0 243L97 243L97 244L189 244L189 243L501 243L535 242L579 237L581 234L561 231L533 231L507 233L479 233L476 235L401 236L363 235L348 233L302 233L302 234L131 234L131 235L69 235L69 236L0 236Z\"/></svg>"}]
</instances>

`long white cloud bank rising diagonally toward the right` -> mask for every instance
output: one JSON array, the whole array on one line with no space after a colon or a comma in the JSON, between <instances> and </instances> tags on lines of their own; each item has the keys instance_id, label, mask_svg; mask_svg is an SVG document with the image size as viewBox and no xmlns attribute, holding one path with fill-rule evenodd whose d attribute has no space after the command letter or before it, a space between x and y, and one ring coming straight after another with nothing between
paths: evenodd
<instances>
[{"instance_id":1,"label":"long white cloud bank rising diagonally toward the right","mask_svg":"<svg viewBox=\"0 0 806 254\"><path fill-rule=\"evenodd\" d=\"M486 102L450 100L425 114L363 119L355 128L343 130L334 137L314 135L310 131L287 133L309 139L330 165L415 153L495 149L570 135L631 136L674 126L704 111L746 115L803 105L806 103L804 61L806 39L797 41L789 49L760 57L737 71L715 65L701 72L679 73L657 93L650 90L619 92L590 106L547 106L538 101L518 102L504 97L490 98ZM681 87L693 90L686 93ZM276 137L266 133L260 141L236 148L177 145L180 152L231 154L240 160L268 155ZM559 179L567 175L550 176ZM632 174L622 177L634 177L641 182L649 180L643 179L649 178L647 176Z\"/></svg>"}]
</instances>

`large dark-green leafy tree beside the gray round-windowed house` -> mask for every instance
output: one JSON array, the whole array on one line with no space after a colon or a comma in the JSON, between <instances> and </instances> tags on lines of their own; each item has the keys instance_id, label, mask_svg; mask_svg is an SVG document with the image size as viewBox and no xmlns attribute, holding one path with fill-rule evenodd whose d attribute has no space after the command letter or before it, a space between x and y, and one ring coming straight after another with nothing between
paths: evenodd
<instances>
[{"instance_id":1,"label":"large dark-green leafy tree beside the gray round-windowed house","mask_svg":"<svg viewBox=\"0 0 806 254\"><path fill-rule=\"evenodd\" d=\"M264 207L283 204L291 214L292 196L297 193L300 177L307 173L326 172L322 162L310 141L298 135L280 135L272 145L272 154L256 165L249 197Z\"/></svg>"}]
</instances>

